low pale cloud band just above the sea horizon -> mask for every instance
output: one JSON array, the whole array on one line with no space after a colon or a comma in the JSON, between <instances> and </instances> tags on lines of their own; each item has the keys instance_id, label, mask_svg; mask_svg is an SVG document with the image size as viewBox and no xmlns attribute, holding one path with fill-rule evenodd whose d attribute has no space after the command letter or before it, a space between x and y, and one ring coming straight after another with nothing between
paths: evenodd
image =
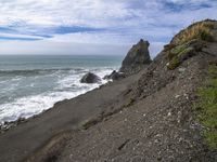
<instances>
[{"instance_id":1,"label":"low pale cloud band just above the sea horizon","mask_svg":"<svg viewBox=\"0 0 217 162\"><path fill-rule=\"evenodd\" d=\"M4 55L39 54L39 55L117 55L126 54L129 44L92 44L41 41L0 41L0 50ZM34 49L34 51L33 51Z\"/></svg>"}]
</instances>

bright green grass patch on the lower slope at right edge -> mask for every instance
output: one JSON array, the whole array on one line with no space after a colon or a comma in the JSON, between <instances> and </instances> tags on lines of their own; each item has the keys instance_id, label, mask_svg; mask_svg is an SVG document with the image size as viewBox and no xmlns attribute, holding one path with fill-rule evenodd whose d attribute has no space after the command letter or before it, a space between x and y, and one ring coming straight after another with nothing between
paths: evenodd
<instances>
[{"instance_id":1,"label":"bright green grass patch on the lower slope at right edge","mask_svg":"<svg viewBox=\"0 0 217 162\"><path fill-rule=\"evenodd\" d=\"M204 137L208 146L217 149L217 66L210 65L209 77L205 85L197 91L200 97L195 104L199 121L205 126Z\"/></svg>"}]
</instances>

